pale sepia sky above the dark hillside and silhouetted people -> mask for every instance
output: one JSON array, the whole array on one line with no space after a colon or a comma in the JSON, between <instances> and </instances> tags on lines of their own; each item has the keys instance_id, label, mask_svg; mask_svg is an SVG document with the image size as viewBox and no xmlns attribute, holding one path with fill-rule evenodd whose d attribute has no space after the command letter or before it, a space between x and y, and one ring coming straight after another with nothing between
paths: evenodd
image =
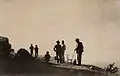
<instances>
[{"instance_id":1,"label":"pale sepia sky above the dark hillside and silhouetted people","mask_svg":"<svg viewBox=\"0 0 120 76\"><path fill-rule=\"evenodd\" d=\"M16 50L38 44L54 55L65 40L72 56L75 38L85 47L83 63L120 63L120 0L0 0L0 34Z\"/></svg>"}]
</instances>

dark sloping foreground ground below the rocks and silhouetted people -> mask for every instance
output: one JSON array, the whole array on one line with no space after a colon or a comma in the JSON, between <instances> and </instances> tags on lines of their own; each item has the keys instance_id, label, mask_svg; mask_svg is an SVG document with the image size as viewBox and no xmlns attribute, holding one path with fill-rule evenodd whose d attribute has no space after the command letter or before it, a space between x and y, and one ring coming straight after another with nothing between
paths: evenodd
<instances>
[{"instance_id":1,"label":"dark sloping foreground ground below the rocks and silhouetted people","mask_svg":"<svg viewBox=\"0 0 120 76\"><path fill-rule=\"evenodd\" d=\"M0 59L0 75L7 76L103 76L103 74L71 68L57 68L39 59Z\"/></svg>"}]
</instances>

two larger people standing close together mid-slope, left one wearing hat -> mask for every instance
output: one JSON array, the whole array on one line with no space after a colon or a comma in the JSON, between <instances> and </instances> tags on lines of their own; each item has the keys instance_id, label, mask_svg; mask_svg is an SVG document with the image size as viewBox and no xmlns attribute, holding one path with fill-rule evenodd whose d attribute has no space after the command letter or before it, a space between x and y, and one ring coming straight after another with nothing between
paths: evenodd
<instances>
[{"instance_id":1,"label":"two larger people standing close together mid-slope, left one wearing hat","mask_svg":"<svg viewBox=\"0 0 120 76\"><path fill-rule=\"evenodd\" d=\"M60 45L60 41L56 41L56 45L54 46L54 51L56 52L56 60L57 63L65 63L65 50L66 45L64 44L64 40L62 40L62 45Z\"/></svg>"}]
</instances>

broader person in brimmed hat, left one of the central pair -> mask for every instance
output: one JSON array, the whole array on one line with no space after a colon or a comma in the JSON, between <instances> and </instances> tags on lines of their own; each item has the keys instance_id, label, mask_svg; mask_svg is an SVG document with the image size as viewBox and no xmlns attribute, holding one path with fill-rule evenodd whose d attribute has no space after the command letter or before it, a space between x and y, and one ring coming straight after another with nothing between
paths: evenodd
<instances>
[{"instance_id":1,"label":"broader person in brimmed hat, left one of the central pair","mask_svg":"<svg viewBox=\"0 0 120 76\"><path fill-rule=\"evenodd\" d=\"M60 42L59 41L56 41L56 45L54 46L54 51L56 52L56 60L57 60L57 63L62 63L62 55L61 55L61 51L62 51L62 47L60 45Z\"/></svg>"}]
</instances>

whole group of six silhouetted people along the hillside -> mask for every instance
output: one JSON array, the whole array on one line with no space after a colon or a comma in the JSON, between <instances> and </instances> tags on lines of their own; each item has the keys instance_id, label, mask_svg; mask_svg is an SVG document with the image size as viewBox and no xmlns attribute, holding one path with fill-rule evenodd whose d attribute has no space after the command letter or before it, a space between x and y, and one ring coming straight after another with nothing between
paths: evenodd
<instances>
[{"instance_id":1,"label":"whole group of six silhouetted people along the hillside","mask_svg":"<svg viewBox=\"0 0 120 76\"><path fill-rule=\"evenodd\" d=\"M74 51L76 51L77 54L77 61L78 61L78 65L81 66L81 58L82 58L82 53L84 52L84 47L82 42L80 42L79 38L76 38L76 43L77 43L77 47L75 48ZM33 44L31 44L31 46L29 47L30 49L30 54L33 55L33 51L35 50L35 57L38 56L38 46L35 45L35 47L33 46ZM66 45L64 43L64 40L62 40L62 43L60 44L60 41L56 41L56 45L54 46L53 50L56 53L55 56L55 60L57 60L57 63L65 63L65 50L66 50ZM46 52L45 56L44 56L45 61L49 61L50 60L50 54L49 51ZM74 60L73 64L76 65L76 59Z\"/></svg>"}]
</instances>

